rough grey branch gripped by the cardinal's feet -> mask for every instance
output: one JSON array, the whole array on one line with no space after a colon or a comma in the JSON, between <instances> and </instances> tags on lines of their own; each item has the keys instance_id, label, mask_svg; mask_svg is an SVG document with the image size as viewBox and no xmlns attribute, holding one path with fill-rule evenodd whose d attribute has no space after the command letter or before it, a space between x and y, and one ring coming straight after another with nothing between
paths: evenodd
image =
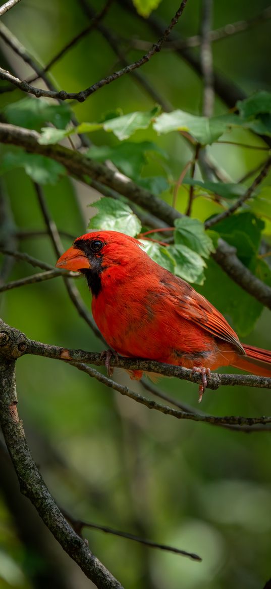
<instances>
[{"instance_id":1,"label":"rough grey branch gripped by the cardinal's feet","mask_svg":"<svg viewBox=\"0 0 271 589\"><path fill-rule=\"evenodd\" d=\"M86 352L84 350L71 350L67 348L60 348L35 340L28 339L15 327L6 325L0 319L0 345L1 353L5 353L12 358L19 358L24 354L31 354L35 356L44 356L45 358L52 358L55 360L64 360L69 363L85 362L96 366L104 366L105 359L101 358L101 353ZM85 366L85 365L83 365ZM140 359L140 358L122 358L111 359L112 368L125 368L126 370L142 370L143 372L155 372L163 376L175 376L181 380L189 380L190 382L201 383L201 376L198 373L193 373L188 368L182 366L173 366L170 364L155 362L155 360ZM100 375L100 373L98 373ZM103 375L100 375L103 378ZM110 380L110 379L109 379ZM107 382L107 381L106 381ZM262 389L271 389L271 378L265 376L243 375L243 374L217 374L212 373L208 377L209 389L213 391L219 386L256 386ZM121 386L121 385L120 385ZM270 418L271 419L271 418Z\"/></svg>"}]
</instances>

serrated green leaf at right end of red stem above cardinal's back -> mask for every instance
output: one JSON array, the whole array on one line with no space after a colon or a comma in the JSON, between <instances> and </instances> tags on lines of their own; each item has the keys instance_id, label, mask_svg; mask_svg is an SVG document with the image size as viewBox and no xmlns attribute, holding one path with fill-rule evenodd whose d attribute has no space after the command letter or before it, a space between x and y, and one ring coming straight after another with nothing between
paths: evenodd
<instances>
[{"instance_id":1,"label":"serrated green leaf at right end of red stem above cardinal's back","mask_svg":"<svg viewBox=\"0 0 271 589\"><path fill-rule=\"evenodd\" d=\"M176 219L174 224L176 227L174 231L175 244L183 244L206 258L215 251L212 239L206 233L203 223L198 219L180 217L180 219Z\"/></svg>"}]
</instances>

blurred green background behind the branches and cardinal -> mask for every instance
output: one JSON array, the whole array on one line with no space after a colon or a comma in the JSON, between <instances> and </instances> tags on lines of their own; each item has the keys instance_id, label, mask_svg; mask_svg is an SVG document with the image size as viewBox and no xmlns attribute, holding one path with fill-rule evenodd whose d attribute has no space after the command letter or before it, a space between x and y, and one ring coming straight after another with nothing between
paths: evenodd
<instances>
[{"instance_id":1,"label":"blurred green background behind the branches and cardinal","mask_svg":"<svg viewBox=\"0 0 271 589\"><path fill-rule=\"evenodd\" d=\"M90 4L89 4L90 5ZM214 2L213 28L253 18L268 2L252 0ZM99 11L101 3L92 2ZM168 24L178 2L163 0L154 13ZM201 2L189 0L176 32L198 34ZM80 2L24 0L3 18L35 59L45 65L88 23ZM270 20L213 44L215 68L245 92L269 90L271 82ZM113 2L104 25L123 41L128 61L142 51L131 39L154 41L157 35L147 21ZM198 49L192 49L195 55ZM26 78L32 70L1 42L3 67ZM57 88L79 91L119 69L119 59L98 31L86 35L53 66ZM200 114L202 82L198 74L174 52L162 51L141 73L174 108ZM4 82L3 82L4 85ZM0 107L23 98L16 90L0 95ZM153 98L131 76L123 76L74 104L78 120L99 121L106 111L148 110ZM225 112L217 98L215 112ZM138 131L135 141L153 140L152 130ZM236 139L250 138L239 131ZM118 143L115 135L91 135L97 145ZM169 155L172 181L191 157L178 134L155 137ZM254 141L256 141L254 139ZM248 141L249 143L249 141ZM262 161L262 154L229 145L212 145L209 154L239 180ZM163 175L158 158L150 160L146 176ZM23 170L2 177L1 201L9 208L9 223L19 230L45 230L32 182ZM62 178L45 187L49 210L59 230L71 236L85 233L93 190ZM170 194L165 198L171 202ZM179 193L178 207L186 201ZM193 216L205 219L220 211L216 204L197 199ZM2 227L3 229L3 227ZM6 226L4 227L6 230ZM63 237L63 246L72 239ZM49 237L24 237L18 247L54 264ZM15 280L33 273L16 262L9 274ZM76 286L90 308L88 288ZM216 302L216 284L206 282ZM225 297L231 296L225 292ZM1 297L1 316L31 339L70 348L102 350L101 342L78 316L62 279L24 286ZM227 317L229 318L229 317ZM270 313L265 311L246 341L270 349ZM114 377L136 391L119 369ZM84 530L91 550L121 580L126 589L263 589L271 577L271 461L270 432L244 434L204 423L179 422L150 412L99 385L72 366L54 360L25 357L17 363L19 415L24 422L32 454L56 502L73 517L109 525L185 550L198 552L202 563L178 555L150 550L134 542ZM197 407L198 387L162 379L159 386L170 395ZM213 415L268 415L269 392L252 388L207 391L204 411ZM18 482L4 447L0 448L0 587L63 589L91 587L79 568L56 545L29 502L19 495Z\"/></svg>"}]
</instances>

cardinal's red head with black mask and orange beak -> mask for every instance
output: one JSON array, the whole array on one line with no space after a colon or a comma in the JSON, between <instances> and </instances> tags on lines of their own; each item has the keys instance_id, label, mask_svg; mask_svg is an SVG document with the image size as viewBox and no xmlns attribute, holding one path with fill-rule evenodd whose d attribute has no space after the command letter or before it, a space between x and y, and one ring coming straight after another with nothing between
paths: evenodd
<instances>
[{"instance_id":1,"label":"cardinal's red head with black mask and orange beak","mask_svg":"<svg viewBox=\"0 0 271 589\"><path fill-rule=\"evenodd\" d=\"M114 274L123 267L136 262L136 257L142 250L140 242L118 231L92 231L73 241L62 254L57 268L65 268L73 272L81 272L86 276L93 294L101 290L101 277L106 270Z\"/></svg>"}]
</instances>

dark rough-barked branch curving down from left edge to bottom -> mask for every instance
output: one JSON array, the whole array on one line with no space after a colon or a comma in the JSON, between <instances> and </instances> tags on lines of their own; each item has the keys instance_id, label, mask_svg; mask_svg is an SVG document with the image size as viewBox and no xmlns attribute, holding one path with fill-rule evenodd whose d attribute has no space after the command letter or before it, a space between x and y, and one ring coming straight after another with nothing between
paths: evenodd
<instances>
[{"instance_id":1,"label":"dark rough-barked branch curving down from left edge to bottom","mask_svg":"<svg viewBox=\"0 0 271 589\"><path fill-rule=\"evenodd\" d=\"M0 423L22 494L30 499L63 550L77 562L96 587L123 589L68 524L46 487L29 451L16 409L15 360L0 355L0 367Z\"/></svg>"}]
</instances>

